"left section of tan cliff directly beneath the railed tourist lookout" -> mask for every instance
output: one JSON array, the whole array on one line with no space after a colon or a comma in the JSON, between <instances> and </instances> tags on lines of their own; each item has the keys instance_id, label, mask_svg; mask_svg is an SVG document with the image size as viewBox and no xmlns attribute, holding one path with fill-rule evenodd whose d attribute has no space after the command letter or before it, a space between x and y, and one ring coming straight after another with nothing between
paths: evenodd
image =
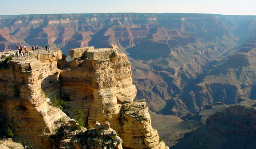
<instances>
[{"instance_id":1,"label":"left section of tan cliff directly beneath the railed tourist lookout","mask_svg":"<svg viewBox=\"0 0 256 149\"><path fill-rule=\"evenodd\" d=\"M51 105L44 93L51 85L51 91L59 92L56 87L59 84L58 55L61 56L61 51L38 60L12 60L8 68L0 69L0 114L4 117L1 128L11 126L15 140L33 148L49 148L49 135L61 126L58 119L68 119L59 108ZM48 84L49 80L53 82Z\"/></svg>"}]
</instances>

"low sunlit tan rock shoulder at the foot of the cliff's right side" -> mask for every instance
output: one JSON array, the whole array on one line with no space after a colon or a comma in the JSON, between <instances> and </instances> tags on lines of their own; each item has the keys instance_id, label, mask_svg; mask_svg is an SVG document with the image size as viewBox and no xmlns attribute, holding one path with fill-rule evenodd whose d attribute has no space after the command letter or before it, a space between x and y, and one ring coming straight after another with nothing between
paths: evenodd
<instances>
[{"instance_id":1,"label":"low sunlit tan rock shoulder at the foot of the cliff's right side","mask_svg":"<svg viewBox=\"0 0 256 149\"><path fill-rule=\"evenodd\" d=\"M145 100L139 100L122 105L118 129L123 138L123 146L133 149L166 149L158 133L152 128Z\"/></svg>"}]
</instances>

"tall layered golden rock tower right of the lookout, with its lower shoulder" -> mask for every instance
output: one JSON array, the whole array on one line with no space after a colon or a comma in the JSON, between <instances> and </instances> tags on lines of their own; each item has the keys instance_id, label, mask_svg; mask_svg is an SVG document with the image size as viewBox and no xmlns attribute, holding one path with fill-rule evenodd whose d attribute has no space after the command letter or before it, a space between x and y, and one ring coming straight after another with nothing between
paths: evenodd
<instances>
[{"instance_id":1,"label":"tall layered golden rock tower right of the lookout, with its lower shoulder","mask_svg":"<svg viewBox=\"0 0 256 149\"><path fill-rule=\"evenodd\" d=\"M79 58L69 63L62 61L59 68L61 97L67 101L65 105L71 117L76 109L81 109L89 128L94 128L96 121L109 121L126 148L165 147L150 125L146 102L132 102L136 89L125 54L113 48L87 49L80 56L69 53Z\"/></svg>"}]
</instances>

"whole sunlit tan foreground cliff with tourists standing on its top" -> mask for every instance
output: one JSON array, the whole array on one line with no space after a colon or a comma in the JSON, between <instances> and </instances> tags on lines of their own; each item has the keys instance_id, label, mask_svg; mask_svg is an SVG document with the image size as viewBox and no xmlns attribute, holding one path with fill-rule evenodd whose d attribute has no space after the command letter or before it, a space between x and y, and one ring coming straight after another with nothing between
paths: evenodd
<instances>
[{"instance_id":1,"label":"whole sunlit tan foreground cliff with tourists standing on its top","mask_svg":"<svg viewBox=\"0 0 256 149\"><path fill-rule=\"evenodd\" d=\"M146 102L132 102L136 89L132 85L132 71L126 55L113 48L85 49L72 49L72 56L79 58L71 62L66 62L65 56L62 59L61 51L33 55L35 58L25 61L8 61L8 67L1 68L0 73L0 113L4 117L1 127L11 126L16 135L14 139L23 145L47 149L52 146L50 136L73 131L74 124L69 119L81 109L84 112L82 121L92 133L95 129L98 131L96 123L110 122L123 141L117 141L122 143L116 145L118 149L122 146L164 149L163 141L159 141L157 131L150 124ZM66 101L63 105L65 113L53 107L49 99L52 100L54 95ZM66 129L61 133L60 128ZM106 132L112 132L108 128L105 128ZM80 131L67 134L77 138L78 146L82 148L85 144L79 143L79 136L83 136L82 132L86 136L89 130ZM88 138L95 137L97 135ZM77 145L72 141L66 138L65 141L55 140L53 144L72 148Z\"/></svg>"}]
</instances>

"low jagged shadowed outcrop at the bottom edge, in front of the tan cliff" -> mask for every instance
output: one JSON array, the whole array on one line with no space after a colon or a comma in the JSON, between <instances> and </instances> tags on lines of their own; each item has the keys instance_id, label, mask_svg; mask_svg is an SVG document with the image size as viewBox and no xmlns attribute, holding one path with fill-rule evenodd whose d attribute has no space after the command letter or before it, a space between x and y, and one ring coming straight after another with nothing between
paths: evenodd
<instances>
[{"instance_id":1,"label":"low jagged shadowed outcrop at the bottom edge, in front of the tan cliff","mask_svg":"<svg viewBox=\"0 0 256 149\"><path fill-rule=\"evenodd\" d=\"M95 129L76 129L74 120L66 121L61 129L52 136L55 148L61 149L122 149L122 140L117 133L110 128L110 124L96 123Z\"/></svg>"}]
</instances>

